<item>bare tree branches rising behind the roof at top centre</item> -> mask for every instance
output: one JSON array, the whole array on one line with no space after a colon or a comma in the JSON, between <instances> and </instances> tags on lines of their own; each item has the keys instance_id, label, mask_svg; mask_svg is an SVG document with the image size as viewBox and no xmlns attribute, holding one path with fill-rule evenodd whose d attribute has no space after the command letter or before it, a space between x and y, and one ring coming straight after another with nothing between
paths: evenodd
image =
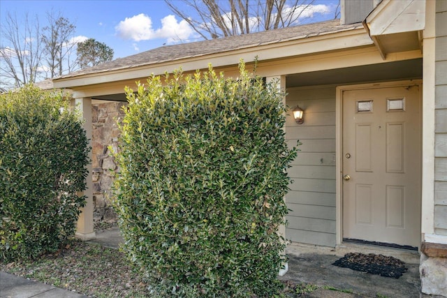
<instances>
[{"instance_id":1,"label":"bare tree branches rising behind the roof at top centre","mask_svg":"<svg viewBox=\"0 0 447 298\"><path fill-rule=\"evenodd\" d=\"M202 38L219 38L298 24L314 0L165 0ZM191 17L186 7L198 17Z\"/></svg>"}]
</instances>

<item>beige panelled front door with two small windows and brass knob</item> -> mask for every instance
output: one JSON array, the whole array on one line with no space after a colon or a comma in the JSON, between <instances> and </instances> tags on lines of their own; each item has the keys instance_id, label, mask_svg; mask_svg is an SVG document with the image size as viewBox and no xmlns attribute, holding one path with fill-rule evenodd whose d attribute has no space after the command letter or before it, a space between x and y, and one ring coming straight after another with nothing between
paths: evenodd
<instances>
[{"instance_id":1,"label":"beige panelled front door with two small windows and brass knob","mask_svg":"<svg viewBox=\"0 0 447 298\"><path fill-rule=\"evenodd\" d=\"M343 238L420 245L419 86L342 94Z\"/></svg>"}]
</instances>

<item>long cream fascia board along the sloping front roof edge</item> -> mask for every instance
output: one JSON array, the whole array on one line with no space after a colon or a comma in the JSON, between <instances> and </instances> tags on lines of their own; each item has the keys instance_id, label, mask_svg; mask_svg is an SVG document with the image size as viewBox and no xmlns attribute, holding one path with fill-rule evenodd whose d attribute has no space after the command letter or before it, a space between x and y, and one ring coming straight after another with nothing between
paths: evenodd
<instances>
[{"instance_id":1,"label":"long cream fascia board along the sloping front roof edge","mask_svg":"<svg viewBox=\"0 0 447 298\"><path fill-rule=\"evenodd\" d=\"M55 88L71 88L91 84L103 84L123 80L133 80L149 75L162 75L166 72L182 67L182 70L194 71L207 68L212 64L214 68L237 65L240 59L249 62L258 57L258 61L270 59L284 59L306 54L317 54L333 50L343 50L352 47L362 47L372 45L372 40L364 28L342 31L311 38L286 41L270 45L260 45L240 50L219 52L189 59L179 59L166 61L159 64L150 64L135 68L124 68L120 70L110 70L108 72L80 75L78 77L66 77L54 80Z\"/></svg>"}]
</instances>

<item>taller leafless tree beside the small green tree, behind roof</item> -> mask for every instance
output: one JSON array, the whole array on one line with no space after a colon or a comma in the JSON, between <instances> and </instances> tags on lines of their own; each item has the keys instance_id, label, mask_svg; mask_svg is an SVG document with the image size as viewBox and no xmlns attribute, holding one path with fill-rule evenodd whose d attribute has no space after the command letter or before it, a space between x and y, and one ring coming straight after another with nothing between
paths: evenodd
<instances>
[{"instance_id":1,"label":"taller leafless tree beside the small green tree, behind roof","mask_svg":"<svg viewBox=\"0 0 447 298\"><path fill-rule=\"evenodd\" d=\"M53 10L47 13L47 24L43 27L42 35L44 57L49 77L56 77L75 68L70 56L76 45L71 40L76 26L61 13L54 13Z\"/></svg>"}]
</instances>

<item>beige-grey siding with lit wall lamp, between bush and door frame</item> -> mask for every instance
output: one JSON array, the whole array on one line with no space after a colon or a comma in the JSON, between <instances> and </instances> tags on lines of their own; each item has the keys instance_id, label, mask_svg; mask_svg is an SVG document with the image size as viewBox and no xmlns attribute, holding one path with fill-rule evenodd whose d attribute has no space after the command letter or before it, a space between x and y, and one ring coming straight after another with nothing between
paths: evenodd
<instances>
[{"instance_id":1,"label":"beige-grey siding with lit wall lamp, between bush and door frame","mask_svg":"<svg viewBox=\"0 0 447 298\"><path fill-rule=\"evenodd\" d=\"M307 244L335 246L335 87L288 89L286 104L305 110L298 125L288 112L286 138L297 158L288 169L293 179L286 203L287 239Z\"/></svg>"}]
</instances>

